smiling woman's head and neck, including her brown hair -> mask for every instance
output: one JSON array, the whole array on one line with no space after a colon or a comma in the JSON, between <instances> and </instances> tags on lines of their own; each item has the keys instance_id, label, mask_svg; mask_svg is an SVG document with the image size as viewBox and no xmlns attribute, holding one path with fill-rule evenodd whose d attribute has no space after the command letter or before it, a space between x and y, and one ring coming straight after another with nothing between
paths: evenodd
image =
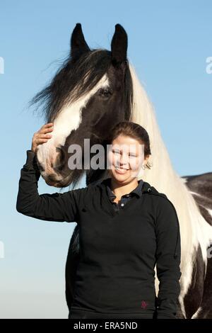
<instances>
[{"instance_id":1,"label":"smiling woman's head and neck, including her brown hair","mask_svg":"<svg viewBox=\"0 0 212 333\"><path fill-rule=\"evenodd\" d=\"M148 162L150 140L144 128L125 120L114 126L106 142L111 146L108 162L112 191L117 196L114 201L119 201L123 192L131 192L138 186L137 178L141 177L141 170L151 169Z\"/></svg>"}]
</instances>

